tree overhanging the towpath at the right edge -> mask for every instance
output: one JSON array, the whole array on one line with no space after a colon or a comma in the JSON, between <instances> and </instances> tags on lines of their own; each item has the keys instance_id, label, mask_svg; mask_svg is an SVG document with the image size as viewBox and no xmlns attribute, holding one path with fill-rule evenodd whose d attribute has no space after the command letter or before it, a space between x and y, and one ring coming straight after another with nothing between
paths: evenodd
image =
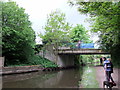
<instances>
[{"instance_id":1,"label":"tree overhanging the towpath at the right edge","mask_svg":"<svg viewBox=\"0 0 120 90\"><path fill-rule=\"evenodd\" d=\"M92 31L99 34L100 41L98 42L101 48L110 51L114 63L119 65L120 2L80 2L76 0L74 5L79 6L79 12L91 15Z\"/></svg>"}]
</instances>

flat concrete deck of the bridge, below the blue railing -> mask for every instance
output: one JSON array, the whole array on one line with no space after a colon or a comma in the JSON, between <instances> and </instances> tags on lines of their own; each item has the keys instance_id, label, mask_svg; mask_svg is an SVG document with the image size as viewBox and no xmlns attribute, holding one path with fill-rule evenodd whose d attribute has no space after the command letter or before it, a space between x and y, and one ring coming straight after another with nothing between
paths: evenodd
<instances>
[{"instance_id":1,"label":"flat concrete deck of the bridge, below the blue railing","mask_svg":"<svg viewBox=\"0 0 120 90\"><path fill-rule=\"evenodd\" d=\"M58 54L110 54L101 49L59 49Z\"/></svg>"}]
</instances>

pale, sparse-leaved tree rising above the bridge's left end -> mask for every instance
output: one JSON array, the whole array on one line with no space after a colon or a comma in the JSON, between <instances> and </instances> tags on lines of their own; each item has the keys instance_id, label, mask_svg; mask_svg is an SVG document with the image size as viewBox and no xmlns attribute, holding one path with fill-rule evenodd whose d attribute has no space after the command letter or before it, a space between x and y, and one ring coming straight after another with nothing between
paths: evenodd
<instances>
[{"instance_id":1,"label":"pale, sparse-leaved tree rising above the bridge's left end","mask_svg":"<svg viewBox=\"0 0 120 90\"><path fill-rule=\"evenodd\" d=\"M45 44L55 44L60 41L69 40L68 31L70 28L71 26L66 22L65 14L56 10L47 17L47 23L44 27L45 35L40 34L39 36Z\"/></svg>"}]
</instances>

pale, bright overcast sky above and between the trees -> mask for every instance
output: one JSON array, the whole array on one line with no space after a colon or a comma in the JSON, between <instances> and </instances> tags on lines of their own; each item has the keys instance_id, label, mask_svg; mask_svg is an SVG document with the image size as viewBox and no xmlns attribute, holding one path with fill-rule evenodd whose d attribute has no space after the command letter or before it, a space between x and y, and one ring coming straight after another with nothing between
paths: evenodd
<instances>
[{"instance_id":1,"label":"pale, bright overcast sky above and between the trees","mask_svg":"<svg viewBox=\"0 0 120 90\"><path fill-rule=\"evenodd\" d=\"M25 13L29 15L29 20L32 22L32 28L36 33L44 33L43 27L47 21L47 15L52 11L59 9L65 13L66 21L71 25L82 24L87 30L90 29L90 24L85 21L88 16L82 15L77 11L77 7L71 7L67 3L68 0L12 0L20 7L25 9ZM94 38L94 42L96 41ZM41 39L37 36L36 42L41 43Z\"/></svg>"}]
</instances>

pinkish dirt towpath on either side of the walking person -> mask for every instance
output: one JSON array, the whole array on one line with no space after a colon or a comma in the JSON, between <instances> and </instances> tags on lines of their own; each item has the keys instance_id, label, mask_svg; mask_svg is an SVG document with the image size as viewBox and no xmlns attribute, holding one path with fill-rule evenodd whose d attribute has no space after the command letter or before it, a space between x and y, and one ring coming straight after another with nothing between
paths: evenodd
<instances>
[{"instance_id":1,"label":"pinkish dirt towpath on either side of the walking person","mask_svg":"<svg viewBox=\"0 0 120 90\"><path fill-rule=\"evenodd\" d=\"M102 82L105 80L105 73L102 66L96 66L96 78L99 83L99 87L103 88ZM117 84L117 86L114 86L113 88L119 88L120 90L120 69L114 68L114 73L112 74L112 77Z\"/></svg>"}]
</instances>

